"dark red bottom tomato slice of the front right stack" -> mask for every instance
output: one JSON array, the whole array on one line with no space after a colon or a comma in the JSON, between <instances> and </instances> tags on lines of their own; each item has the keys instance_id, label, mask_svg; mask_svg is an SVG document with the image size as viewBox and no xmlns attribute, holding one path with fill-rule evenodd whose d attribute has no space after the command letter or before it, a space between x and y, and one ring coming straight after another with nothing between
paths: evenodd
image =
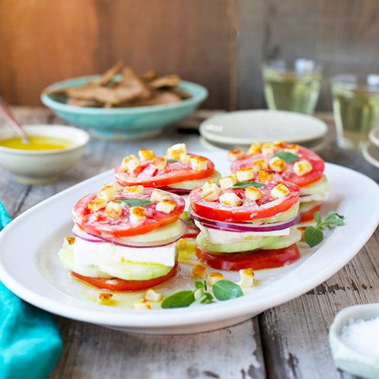
<instances>
[{"instance_id":1,"label":"dark red bottom tomato slice of the front right stack","mask_svg":"<svg viewBox=\"0 0 379 379\"><path fill-rule=\"evenodd\" d=\"M296 243L283 249L254 250L253 252L212 254L196 247L196 256L214 269L238 271L240 269L273 269L296 262L300 252Z\"/></svg>"}]
</instances>

